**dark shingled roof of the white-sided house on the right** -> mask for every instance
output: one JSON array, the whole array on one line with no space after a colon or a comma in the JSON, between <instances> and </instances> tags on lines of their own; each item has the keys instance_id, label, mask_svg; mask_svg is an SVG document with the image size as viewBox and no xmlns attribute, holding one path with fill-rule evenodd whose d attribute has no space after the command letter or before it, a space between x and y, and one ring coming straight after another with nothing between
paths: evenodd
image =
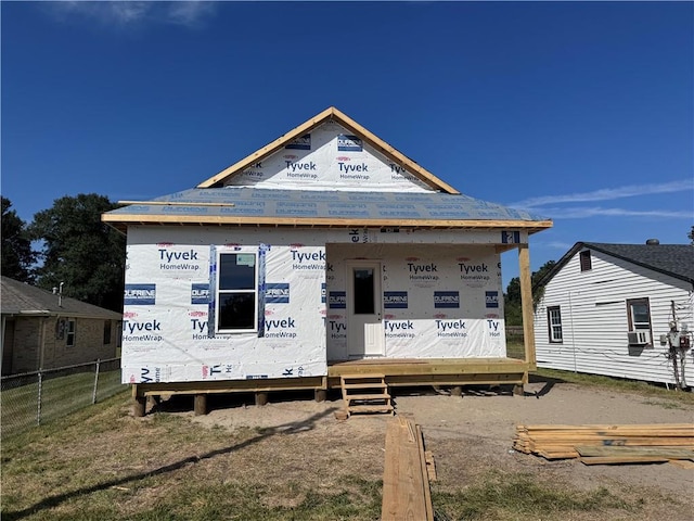
<instances>
[{"instance_id":1,"label":"dark shingled roof of the white-sided house on the right","mask_svg":"<svg viewBox=\"0 0 694 521\"><path fill-rule=\"evenodd\" d=\"M694 284L694 245L689 244L613 244L604 242L577 242L534 285L547 284L568 260L583 249L594 250L621 260L654 271L669 275Z\"/></svg>"}]
</instances>

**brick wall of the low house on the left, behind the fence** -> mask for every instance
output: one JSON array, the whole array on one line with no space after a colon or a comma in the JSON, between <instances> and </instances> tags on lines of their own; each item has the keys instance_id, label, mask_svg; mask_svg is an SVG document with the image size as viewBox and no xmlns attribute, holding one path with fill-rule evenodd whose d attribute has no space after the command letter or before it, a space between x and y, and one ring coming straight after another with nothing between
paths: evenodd
<instances>
[{"instance_id":1,"label":"brick wall of the low house on the left, behind the fence","mask_svg":"<svg viewBox=\"0 0 694 521\"><path fill-rule=\"evenodd\" d=\"M56 317L16 317L14 322L11 346L14 374L37 371L41 366L41 357L43 369L52 369L116 356L119 334L116 320L111 320L111 344L104 344L104 319L75 318L73 346L67 346L66 334L62 339L56 334Z\"/></svg>"}]
</instances>

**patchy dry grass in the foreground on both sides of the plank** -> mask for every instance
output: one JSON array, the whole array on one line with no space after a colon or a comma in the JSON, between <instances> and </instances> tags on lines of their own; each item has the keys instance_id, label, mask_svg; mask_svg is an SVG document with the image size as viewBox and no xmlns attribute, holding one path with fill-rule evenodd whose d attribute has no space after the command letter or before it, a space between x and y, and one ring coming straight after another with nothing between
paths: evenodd
<instances>
[{"instance_id":1,"label":"patchy dry grass in the foreground on both sides of the plank","mask_svg":"<svg viewBox=\"0 0 694 521\"><path fill-rule=\"evenodd\" d=\"M121 392L3 439L2 520L380 519L378 472L326 459L329 445L320 443L331 442L312 425L308 439L301 430L230 431L170 412L132 418L129 407ZM450 521L597 519L639 509L604 487L575 490L504 469L434 482L432 497L437 519Z\"/></svg>"}]
</instances>

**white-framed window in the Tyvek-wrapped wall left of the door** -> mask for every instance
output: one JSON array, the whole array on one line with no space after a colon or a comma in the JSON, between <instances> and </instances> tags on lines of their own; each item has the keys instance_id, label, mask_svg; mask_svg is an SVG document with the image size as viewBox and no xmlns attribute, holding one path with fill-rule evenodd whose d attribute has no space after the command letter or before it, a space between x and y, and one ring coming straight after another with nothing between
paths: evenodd
<instances>
[{"instance_id":1,"label":"white-framed window in the Tyvek-wrapped wall left of the door","mask_svg":"<svg viewBox=\"0 0 694 521\"><path fill-rule=\"evenodd\" d=\"M258 330L258 270L255 253L220 253L217 263L217 331Z\"/></svg>"}]
</instances>

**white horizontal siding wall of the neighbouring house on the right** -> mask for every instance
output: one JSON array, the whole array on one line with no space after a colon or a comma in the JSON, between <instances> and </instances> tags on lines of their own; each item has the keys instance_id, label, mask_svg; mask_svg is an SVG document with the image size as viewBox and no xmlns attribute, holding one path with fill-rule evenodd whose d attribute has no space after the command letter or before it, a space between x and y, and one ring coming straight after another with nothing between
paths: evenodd
<instances>
[{"instance_id":1,"label":"white horizontal siding wall of the neighbouring house on the right","mask_svg":"<svg viewBox=\"0 0 694 521\"><path fill-rule=\"evenodd\" d=\"M685 281L591 250L592 269L580 270L579 254L550 280L535 314L538 367L674 383L668 346L671 302L678 316L694 326L692 288ZM627 303L648 297L653 347L629 345ZM548 307L560 306L563 342L551 343ZM694 382L694 358L686 355L685 377Z\"/></svg>"}]
</instances>

